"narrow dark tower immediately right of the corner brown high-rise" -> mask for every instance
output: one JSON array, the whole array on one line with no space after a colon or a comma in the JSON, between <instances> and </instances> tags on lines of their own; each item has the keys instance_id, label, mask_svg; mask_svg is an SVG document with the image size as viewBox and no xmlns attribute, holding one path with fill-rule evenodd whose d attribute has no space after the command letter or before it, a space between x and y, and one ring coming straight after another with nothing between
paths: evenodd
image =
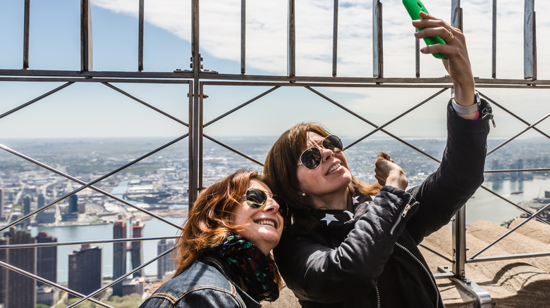
<instances>
[{"instance_id":1,"label":"narrow dark tower immediately right of the corner brown high-rise","mask_svg":"<svg viewBox=\"0 0 550 308\"><path fill-rule=\"evenodd\" d=\"M49 236L48 233L40 231L36 236L37 243L57 243L57 238ZM57 283L57 246L37 248L37 275L53 283ZM44 285L37 281L37 285Z\"/></svg>"}]
</instances>

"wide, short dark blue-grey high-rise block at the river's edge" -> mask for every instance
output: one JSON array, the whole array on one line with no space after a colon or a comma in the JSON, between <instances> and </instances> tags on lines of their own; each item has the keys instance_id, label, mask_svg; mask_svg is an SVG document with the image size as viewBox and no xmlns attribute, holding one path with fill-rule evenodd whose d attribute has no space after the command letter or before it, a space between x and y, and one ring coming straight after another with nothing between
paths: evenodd
<instances>
[{"instance_id":1,"label":"wide, short dark blue-grey high-rise block at the river's edge","mask_svg":"<svg viewBox=\"0 0 550 308\"><path fill-rule=\"evenodd\" d=\"M88 295L102 286L102 248L83 244L69 253L68 288ZM75 297L69 294L69 297ZM34 306L25 306L34 307Z\"/></svg>"}]
</instances>

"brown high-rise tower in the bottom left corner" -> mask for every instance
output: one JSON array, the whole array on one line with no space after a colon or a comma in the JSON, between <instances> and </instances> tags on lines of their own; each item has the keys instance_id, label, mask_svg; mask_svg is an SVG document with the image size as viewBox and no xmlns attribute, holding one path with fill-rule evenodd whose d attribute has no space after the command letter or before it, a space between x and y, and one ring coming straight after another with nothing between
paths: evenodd
<instances>
[{"instance_id":1,"label":"brown high-rise tower in the bottom left corner","mask_svg":"<svg viewBox=\"0 0 550 308\"><path fill-rule=\"evenodd\" d=\"M4 245L32 244L36 239L26 231L12 228L0 239ZM2 255L3 253L3 255ZM18 248L0 252L0 260L13 267L36 274L36 248ZM35 307L36 281L16 271L0 271L0 301L6 308Z\"/></svg>"}]
</instances>

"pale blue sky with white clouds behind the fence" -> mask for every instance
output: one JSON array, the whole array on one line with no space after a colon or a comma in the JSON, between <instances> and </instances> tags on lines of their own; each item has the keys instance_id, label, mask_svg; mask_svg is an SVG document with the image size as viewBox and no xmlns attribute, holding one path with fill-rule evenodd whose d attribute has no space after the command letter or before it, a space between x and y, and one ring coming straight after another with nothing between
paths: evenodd
<instances>
[{"instance_id":1,"label":"pale blue sky with white clouds behind the fence","mask_svg":"<svg viewBox=\"0 0 550 308\"><path fill-rule=\"evenodd\" d=\"M381 1L384 77L414 77L415 39L401 1ZM451 1L425 0L432 15L450 23ZM518 5L518 2L520 3ZM0 70L23 66L23 0L0 0ZM93 70L138 70L138 0L92 0ZM296 72L331 76L334 1L296 1ZM491 0L461 1L464 33L475 77L491 77ZM80 1L31 1L30 69L80 70ZM538 79L550 78L550 1L535 1ZM246 73L286 75L288 1L247 1ZM523 79L523 1L499 0L497 77ZM372 77L372 1L341 0L338 7L338 77ZM191 4L145 1L144 70L172 72L190 64ZM200 49L204 69L240 73L240 1L200 1ZM421 46L423 46L421 42ZM421 56L421 77L446 75L441 60ZM0 82L0 115L61 82ZM188 122L187 86L116 84L135 97ZM205 86L204 122L270 89ZM376 124L398 116L439 89L316 88ZM549 113L546 89L480 88L527 122ZM390 124L399 136L440 137L450 91ZM526 125L494 108L494 138ZM204 129L210 136L277 136L297 122L317 121L334 134L362 136L372 127L307 89L283 87ZM550 121L539 124L550 131ZM181 136L187 128L97 83L76 83L17 113L0 118L0 139L107 136ZM384 136L377 133L375 136ZM540 136L529 131L523 136ZM1 143L1 141L0 141Z\"/></svg>"}]
</instances>

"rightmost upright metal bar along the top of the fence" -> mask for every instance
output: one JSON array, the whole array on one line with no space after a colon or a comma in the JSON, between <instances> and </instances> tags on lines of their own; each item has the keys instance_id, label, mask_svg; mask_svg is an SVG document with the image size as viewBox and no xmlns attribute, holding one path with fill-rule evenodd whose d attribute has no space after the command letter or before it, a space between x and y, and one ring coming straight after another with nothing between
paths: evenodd
<instances>
[{"instance_id":1,"label":"rightmost upright metal bar along the top of the fence","mask_svg":"<svg viewBox=\"0 0 550 308\"><path fill-rule=\"evenodd\" d=\"M534 0L525 0L523 23L523 78L537 79L537 36Z\"/></svg>"}]
</instances>

